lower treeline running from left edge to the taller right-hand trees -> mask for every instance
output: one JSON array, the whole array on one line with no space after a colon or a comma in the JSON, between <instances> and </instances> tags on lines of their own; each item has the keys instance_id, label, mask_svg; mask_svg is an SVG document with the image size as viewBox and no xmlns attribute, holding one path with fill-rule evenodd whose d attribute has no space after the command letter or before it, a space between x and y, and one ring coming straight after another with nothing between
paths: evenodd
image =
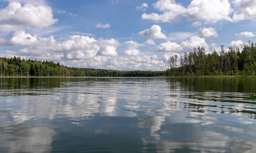
<instances>
[{"instance_id":1,"label":"lower treeline running from left edge to the taller right-hand trees","mask_svg":"<svg viewBox=\"0 0 256 153\"><path fill-rule=\"evenodd\" d=\"M59 62L0 57L0 76L35 77L156 77L165 71L115 71L95 68L69 68Z\"/></svg>"}]
</instances>

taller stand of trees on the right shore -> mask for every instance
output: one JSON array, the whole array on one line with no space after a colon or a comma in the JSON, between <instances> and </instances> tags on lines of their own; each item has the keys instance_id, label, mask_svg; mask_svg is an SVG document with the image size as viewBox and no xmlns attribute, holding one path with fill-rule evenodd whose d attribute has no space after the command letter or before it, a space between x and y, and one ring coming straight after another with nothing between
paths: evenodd
<instances>
[{"instance_id":1,"label":"taller stand of trees on the right shore","mask_svg":"<svg viewBox=\"0 0 256 153\"><path fill-rule=\"evenodd\" d=\"M194 51L169 58L169 69L166 75L227 75L256 76L256 44L248 42L242 50L239 47L229 47L224 50L206 53L204 47L194 48Z\"/></svg>"}]
</instances>

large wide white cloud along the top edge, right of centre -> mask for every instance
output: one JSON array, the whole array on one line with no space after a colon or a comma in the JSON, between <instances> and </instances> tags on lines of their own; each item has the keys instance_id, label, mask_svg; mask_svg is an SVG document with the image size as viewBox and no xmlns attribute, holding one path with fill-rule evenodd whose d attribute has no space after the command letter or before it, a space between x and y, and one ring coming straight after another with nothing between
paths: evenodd
<instances>
[{"instance_id":1,"label":"large wide white cloud along the top edge, right of centre","mask_svg":"<svg viewBox=\"0 0 256 153\"><path fill-rule=\"evenodd\" d=\"M168 23L178 23L181 17L186 17L188 20L202 20L206 23L216 23L220 20L232 21L230 15L233 9L229 0L192 0L187 8L181 3L176 3L175 0L158 0L153 6L163 11L163 14L144 13L142 19Z\"/></svg>"}]
</instances>

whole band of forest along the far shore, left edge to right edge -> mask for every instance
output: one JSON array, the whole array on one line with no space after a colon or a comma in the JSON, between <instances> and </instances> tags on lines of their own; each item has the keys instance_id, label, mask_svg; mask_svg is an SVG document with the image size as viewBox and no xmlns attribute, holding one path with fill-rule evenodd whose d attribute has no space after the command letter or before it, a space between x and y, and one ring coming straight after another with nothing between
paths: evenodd
<instances>
[{"instance_id":1,"label":"whole band of forest along the far shore, left edge to right edge","mask_svg":"<svg viewBox=\"0 0 256 153\"><path fill-rule=\"evenodd\" d=\"M0 57L2 77L161 77L161 76L256 76L256 44L248 42L242 50L229 47L206 53L194 51L169 58L166 71L117 71L96 68L70 68L59 62Z\"/></svg>"}]
</instances>

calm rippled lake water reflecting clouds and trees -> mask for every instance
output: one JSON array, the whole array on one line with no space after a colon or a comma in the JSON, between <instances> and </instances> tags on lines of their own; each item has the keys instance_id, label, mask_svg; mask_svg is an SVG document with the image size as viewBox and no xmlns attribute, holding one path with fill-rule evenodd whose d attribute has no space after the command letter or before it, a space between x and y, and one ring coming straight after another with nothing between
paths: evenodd
<instances>
[{"instance_id":1,"label":"calm rippled lake water reflecting clouds and trees","mask_svg":"<svg viewBox=\"0 0 256 153\"><path fill-rule=\"evenodd\" d=\"M256 78L0 78L0 153L256 153Z\"/></svg>"}]
</instances>

